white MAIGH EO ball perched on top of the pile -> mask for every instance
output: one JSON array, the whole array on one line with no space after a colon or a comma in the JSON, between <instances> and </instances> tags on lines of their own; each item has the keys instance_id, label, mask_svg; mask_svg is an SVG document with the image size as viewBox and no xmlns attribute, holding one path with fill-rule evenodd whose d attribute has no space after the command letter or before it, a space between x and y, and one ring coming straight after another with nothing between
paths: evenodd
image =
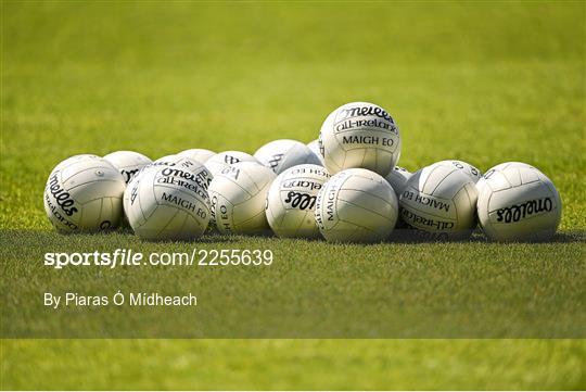
<instances>
[{"instance_id":1,"label":"white MAIGH EO ball perched on top of the pile","mask_svg":"<svg viewBox=\"0 0 586 392\"><path fill-rule=\"evenodd\" d=\"M386 176L400 155L400 136L393 117L381 106L352 102L337 108L319 132L321 155L331 174L353 167Z\"/></svg>"}]
</instances>

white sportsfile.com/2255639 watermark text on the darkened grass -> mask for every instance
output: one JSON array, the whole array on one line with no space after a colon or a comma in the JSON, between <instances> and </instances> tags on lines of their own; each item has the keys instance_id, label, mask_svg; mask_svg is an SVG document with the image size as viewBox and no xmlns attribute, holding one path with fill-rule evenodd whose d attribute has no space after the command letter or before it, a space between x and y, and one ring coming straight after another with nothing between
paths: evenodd
<instances>
[{"instance_id":1,"label":"white sportsfile.com/2255639 watermark text on the darkened grass","mask_svg":"<svg viewBox=\"0 0 586 392\"><path fill-rule=\"evenodd\" d=\"M150 252L116 249L112 252L47 252L43 265L54 269L65 267L140 267L140 266L270 266L269 249L198 249L191 252Z\"/></svg>"}]
</instances>

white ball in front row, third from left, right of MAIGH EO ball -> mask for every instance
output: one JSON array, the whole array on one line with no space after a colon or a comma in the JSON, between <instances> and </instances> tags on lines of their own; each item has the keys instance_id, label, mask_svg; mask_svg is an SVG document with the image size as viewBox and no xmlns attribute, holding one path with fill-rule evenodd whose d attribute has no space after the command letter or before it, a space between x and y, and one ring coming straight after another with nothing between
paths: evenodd
<instances>
[{"instance_id":1,"label":"white ball in front row, third from left, right of MAIGH EO ball","mask_svg":"<svg viewBox=\"0 0 586 392\"><path fill-rule=\"evenodd\" d=\"M217 173L209 185L213 218L221 233L257 235L269 230L265 205L275 173L240 162Z\"/></svg>"}]
</instances>

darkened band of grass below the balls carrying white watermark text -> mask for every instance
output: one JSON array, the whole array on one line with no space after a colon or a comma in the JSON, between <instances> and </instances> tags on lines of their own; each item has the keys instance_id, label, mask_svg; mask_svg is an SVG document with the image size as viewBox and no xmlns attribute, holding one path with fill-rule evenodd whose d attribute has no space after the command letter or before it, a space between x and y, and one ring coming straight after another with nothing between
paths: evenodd
<instances>
[{"instance_id":1,"label":"darkened band of grass below the balls carrying white watermark text","mask_svg":"<svg viewBox=\"0 0 586 392\"><path fill-rule=\"evenodd\" d=\"M583 274L583 262L560 268L560 257L581 251L583 235L559 238L555 251L510 244L510 255L492 264L462 258L463 244L449 241L442 245L454 255L447 265L422 261L421 252L436 248L413 240L412 230L377 244L386 255L377 260L366 252L371 245L357 256L344 244L321 242L272 249L262 237L246 243L230 236L198 243L124 238L112 246L99 236L42 231L1 239L0 316L10 320L2 338L586 336L584 290L568 283L569 274ZM485 244L473 236L466 246ZM546 256L534 258L535 246L546 246ZM472 273L471 263L485 263L497 278Z\"/></svg>"}]
</instances>

